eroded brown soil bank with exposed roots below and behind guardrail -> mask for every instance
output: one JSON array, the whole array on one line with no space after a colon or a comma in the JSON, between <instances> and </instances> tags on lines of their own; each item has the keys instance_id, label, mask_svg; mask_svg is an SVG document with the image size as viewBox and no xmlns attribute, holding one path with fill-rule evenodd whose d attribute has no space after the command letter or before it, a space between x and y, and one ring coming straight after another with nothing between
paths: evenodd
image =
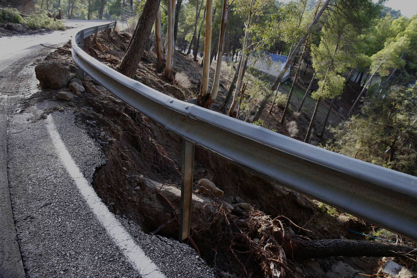
<instances>
[{"instance_id":1,"label":"eroded brown soil bank with exposed roots below and behind guardrail","mask_svg":"<svg viewBox=\"0 0 417 278\"><path fill-rule=\"evenodd\" d=\"M111 36L106 39L100 34L97 43L86 40L85 51L116 68L129 35ZM75 77L77 68L69 49L67 44L48 55L47 60L65 63ZM200 65L179 52L174 65L176 72L189 76L189 88L168 84L148 54L139 65L136 79L175 98L193 98ZM125 215L142 230L176 238L181 138L118 100L90 77L85 77L82 84L85 92L63 101L60 109L74 111L75 120L100 143L108 159L95 173L98 195L114 213ZM34 98L37 102L56 99L61 91L69 89L50 90ZM220 94L225 93L221 86ZM48 108L45 113L54 109L59 108ZM202 190L199 181L203 178L212 181L224 195ZM338 244L345 244L347 239L362 239L348 231L369 231L370 226L360 219L346 213L333 216L317 201L201 148L196 148L193 182L193 227L187 243L219 269L219 277L278 277L278 273L281 277L364 277L358 273L372 275L378 271L380 258L358 257L354 247L347 250L353 257L328 256L320 249L305 255L314 240L337 239L341 240ZM365 245L363 248L368 248ZM323 256L326 258L320 258Z\"/></svg>"}]
</instances>

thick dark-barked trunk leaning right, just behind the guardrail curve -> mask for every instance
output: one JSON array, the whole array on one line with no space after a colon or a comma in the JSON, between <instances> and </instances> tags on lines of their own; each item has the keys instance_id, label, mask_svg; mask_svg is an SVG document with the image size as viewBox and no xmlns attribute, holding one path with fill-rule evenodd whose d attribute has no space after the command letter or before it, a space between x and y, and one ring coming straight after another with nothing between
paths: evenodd
<instances>
[{"instance_id":1,"label":"thick dark-barked trunk leaning right, just behind the guardrail curve","mask_svg":"<svg viewBox=\"0 0 417 278\"><path fill-rule=\"evenodd\" d=\"M138 63L142 58L143 50L145 49L145 45L147 43L147 39L151 34L152 25L155 21L160 3L161 0L146 1L143 7L143 13L138 20L138 25L136 25L134 36L131 38L131 44L118 66L118 71L129 78L133 78L135 76Z\"/></svg>"}]
</instances>

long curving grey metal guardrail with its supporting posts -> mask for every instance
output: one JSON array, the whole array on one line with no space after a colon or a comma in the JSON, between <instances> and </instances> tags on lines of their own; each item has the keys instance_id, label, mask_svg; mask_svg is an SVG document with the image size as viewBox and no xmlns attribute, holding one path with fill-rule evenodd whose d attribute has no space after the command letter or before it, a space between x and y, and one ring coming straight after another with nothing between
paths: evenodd
<instances>
[{"instance_id":1,"label":"long curving grey metal guardrail with its supporting posts","mask_svg":"<svg viewBox=\"0 0 417 278\"><path fill-rule=\"evenodd\" d=\"M116 23L98 26L112 28ZM87 28L83 36L92 35ZM82 31L81 31L82 32ZM269 180L417 240L417 178L333 153L160 93L85 53L72 39L75 63L141 113L184 138L181 235L189 235L193 145Z\"/></svg>"}]
</instances>

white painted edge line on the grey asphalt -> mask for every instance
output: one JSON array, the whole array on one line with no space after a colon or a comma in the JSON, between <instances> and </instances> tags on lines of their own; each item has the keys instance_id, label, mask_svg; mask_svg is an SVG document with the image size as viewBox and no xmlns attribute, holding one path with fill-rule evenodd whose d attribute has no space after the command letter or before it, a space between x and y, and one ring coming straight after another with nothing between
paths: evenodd
<instances>
[{"instance_id":1,"label":"white painted edge line on the grey asphalt","mask_svg":"<svg viewBox=\"0 0 417 278\"><path fill-rule=\"evenodd\" d=\"M45 120L49 135L52 139L53 145L57 150L62 163L65 165L68 173L71 175L75 184L83 194L85 201L90 206L93 213L97 216L101 225L107 230L107 233L113 238L115 243L119 246L123 254L128 258L133 267L135 267L143 277L146 278L161 278L165 277L159 268L146 256L145 252L135 243L129 233L123 228L121 223L111 213L106 205L101 201L95 193L93 187L84 178L78 166L75 164L64 142L55 127L55 123L51 115Z\"/></svg>"}]
</instances>

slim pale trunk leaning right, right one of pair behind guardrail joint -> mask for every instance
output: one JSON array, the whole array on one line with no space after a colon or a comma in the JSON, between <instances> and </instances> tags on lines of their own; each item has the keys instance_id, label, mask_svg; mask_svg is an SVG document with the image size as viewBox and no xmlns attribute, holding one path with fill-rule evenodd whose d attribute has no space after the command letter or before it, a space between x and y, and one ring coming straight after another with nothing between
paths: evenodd
<instances>
[{"instance_id":1,"label":"slim pale trunk leaning right, right one of pair behind guardrail joint","mask_svg":"<svg viewBox=\"0 0 417 278\"><path fill-rule=\"evenodd\" d=\"M221 15L220 35L219 35L219 46L217 47L217 61L216 71L214 73L213 87L206 100L203 100L203 107L211 109L214 100L216 100L217 92L219 91L220 84L220 72L221 72L221 58L223 58L224 48L224 33L226 33L226 18L227 18L227 5L228 0L223 0L223 11ZM235 81L236 82L236 81Z\"/></svg>"}]
</instances>

